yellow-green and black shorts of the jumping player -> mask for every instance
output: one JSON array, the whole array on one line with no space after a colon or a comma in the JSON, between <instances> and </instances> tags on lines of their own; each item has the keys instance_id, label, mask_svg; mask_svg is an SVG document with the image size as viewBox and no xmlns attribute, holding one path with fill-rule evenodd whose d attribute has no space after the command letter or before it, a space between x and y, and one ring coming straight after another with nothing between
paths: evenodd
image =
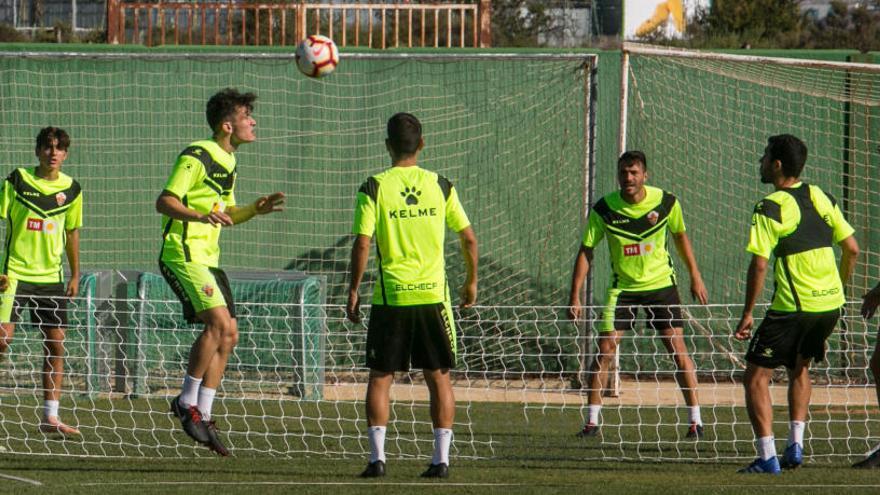
<instances>
[{"instance_id":1,"label":"yellow-green and black shorts of the jumping player","mask_svg":"<svg viewBox=\"0 0 880 495\"><path fill-rule=\"evenodd\" d=\"M159 260L159 270L183 304L183 317L198 323L202 311L226 306L235 318L235 302L223 270L187 261Z\"/></svg>"}]
</instances>

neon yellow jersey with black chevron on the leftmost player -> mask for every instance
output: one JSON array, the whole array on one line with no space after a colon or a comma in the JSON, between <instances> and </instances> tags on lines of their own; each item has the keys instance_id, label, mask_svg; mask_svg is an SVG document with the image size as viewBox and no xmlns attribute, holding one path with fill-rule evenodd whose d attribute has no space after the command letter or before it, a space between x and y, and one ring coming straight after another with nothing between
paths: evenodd
<instances>
[{"instance_id":1,"label":"neon yellow jersey with black chevron on the leftmost player","mask_svg":"<svg viewBox=\"0 0 880 495\"><path fill-rule=\"evenodd\" d=\"M3 273L31 283L64 281L67 231L82 227L82 189L70 176L56 180L19 168L3 183L0 218L6 219Z\"/></svg>"}]
</instances>

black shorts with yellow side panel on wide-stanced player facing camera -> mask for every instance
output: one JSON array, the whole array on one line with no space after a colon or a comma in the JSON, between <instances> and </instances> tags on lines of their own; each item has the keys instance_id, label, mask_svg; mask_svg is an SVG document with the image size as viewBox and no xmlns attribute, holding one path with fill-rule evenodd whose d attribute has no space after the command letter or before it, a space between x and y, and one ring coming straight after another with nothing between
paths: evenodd
<instances>
[{"instance_id":1,"label":"black shorts with yellow side panel on wide-stanced player facing camera","mask_svg":"<svg viewBox=\"0 0 880 495\"><path fill-rule=\"evenodd\" d=\"M654 330L681 328L684 325L678 289L670 285L643 292L610 289L601 330L634 329L640 308L645 310L645 324Z\"/></svg>"}]
</instances>

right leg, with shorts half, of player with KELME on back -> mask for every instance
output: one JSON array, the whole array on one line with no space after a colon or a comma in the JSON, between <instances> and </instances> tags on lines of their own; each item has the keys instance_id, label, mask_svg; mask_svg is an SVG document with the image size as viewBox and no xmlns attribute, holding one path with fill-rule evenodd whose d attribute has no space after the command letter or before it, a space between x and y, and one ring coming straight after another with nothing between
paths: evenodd
<instances>
[{"instance_id":1,"label":"right leg, with shorts half, of player with KELME on back","mask_svg":"<svg viewBox=\"0 0 880 495\"><path fill-rule=\"evenodd\" d=\"M434 454L423 478L449 477L449 448L455 420L455 395L450 369L455 366L458 339L448 302L413 308L412 365L421 368L431 398Z\"/></svg>"}]
</instances>

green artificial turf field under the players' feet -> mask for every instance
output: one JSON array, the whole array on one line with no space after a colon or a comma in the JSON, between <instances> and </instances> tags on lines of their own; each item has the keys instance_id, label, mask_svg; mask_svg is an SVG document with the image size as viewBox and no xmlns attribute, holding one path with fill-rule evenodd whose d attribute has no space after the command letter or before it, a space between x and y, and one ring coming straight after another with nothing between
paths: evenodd
<instances>
[{"instance_id":1,"label":"green artificial turf field under the players' feet","mask_svg":"<svg viewBox=\"0 0 880 495\"><path fill-rule=\"evenodd\" d=\"M322 445L345 446L348 454L342 458L338 454L284 452L283 445L296 448L305 445L296 443L300 435L295 431L295 425L261 422L260 428L283 432L283 435L272 438L279 442L283 440L284 444L262 446L271 446L276 450L275 454L249 449L246 447L247 436L231 434L230 443L235 456L220 459L212 457L201 447L185 445L182 433L165 431L174 423L166 418L167 415L158 412L165 405L164 400L139 399L129 403L137 410L156 411L149 416L155 421L157 431L135 428L136 431L126 434L131 424L125 419L131 420L133 416L125 410L124 404L117 403L110 417L94 413L83 415L79 424L83 431L80 440L43 438L36 432L30 432L24 440L16 439L30 425L16 421L14 414L21 416L22 411L31 410L31 405L18 404L12 408L8 404L4 401L0 406L4 417L0 433L7 435L5 442L0 440L0 446L5 445L7 451L0 454L0 492L8 493L880 493L880 470L864 472L849 467L850 462L859 458L858 454L851 457L827 455L846 452L847 449L849 452L864 451L867 445L865 435L868 432L859 430L864 428L865 422L847 423L842 411L824 417L823 413L814 411L811 429L817 437L849 440L816 442L808 439L808 458L803 468L781 476L768 476L736 473L736 469L747 464L754 452L748 425L737 422L731 427L729 424L734 415L744 417L745 412L741 410L705 408L703 416L709 431L701 442L680 439L681 428L657 427L658 422L674 421L676 411L670 408L642 411L638 417L630 413L615 416L608 411L602 438L581 440L573 435L580 423L580 413L575 408L524 414L520 404L472 404L467 412L473 428L472 438L476 442L488 443L471 452L488 455L488 458L453 456L448 480L422 480L419 474L426 467L428 458L413 459L412 455L417 452L412 449L417 448L416 445L395 442L389 445L396 453L389 455L387 476L379 480L362 480L357 475L366 464L362 454L365 442L357 437L354 423L343 424L343 429L352 430L341 443L334 444L327 439L321 443L320 437L314 436L308 440L315 442L309 448L316 451ZM105 407L100 401L87 404L98 409ZM342 410L338 404L325 407L330 407L322 411L325 415ZM224 410L220 422L227 423L233 431L243 431L245 425L240 423L241 419L236 419L233 409ZM292 416L295 411L288 412ZM426 411L420 412L427 414ZM777 409L776 415L777 420L784 420L784 409ZM27 414L21 417L24 416ZM87 417L93 418L96 424L85 424ZM145 422L145 418L134 419L134 424ZM459 420L463 419L459 417ZM253 418L250 421L253 429ZM639 421L642 426L637 426ZM107 428L111 422L114 425L112 430ZM615 423L626 426L615 426ZM712 424L716 427L709 426ZM306 428L313 426L316 425L306 425ZM117 435L119 432L123 434ZM402 431L397 434L406 436ZM776 435L780 450L785 434L785 424L779 423ZM419 436L430 442L430 429ZM125 445L114 447L114 438ZM144 448L132 447L132 439L142 442ZM461 442L461 438L458 441ZM169 446L149 447L156 442ZM425 442L418 445L422 454L425 453ZM170 447L172 444L174 448ZM459 452L467 452L463 445L456 448ZM39 455L13 453L27 451ZM63 452L71 455L57 455ZM101 452L122 453L126 457L82 455L95 456ZM809 457L811 452L818 454L816 459ZM168 458L156 458L158 456ZM602 461L603 457L632 460ZM690 460L635 460L639 457L683 457ZM731 457L740 459L731 460ZM714 460L716 458L725 460Z\"/></svg>"}]
</instances>

